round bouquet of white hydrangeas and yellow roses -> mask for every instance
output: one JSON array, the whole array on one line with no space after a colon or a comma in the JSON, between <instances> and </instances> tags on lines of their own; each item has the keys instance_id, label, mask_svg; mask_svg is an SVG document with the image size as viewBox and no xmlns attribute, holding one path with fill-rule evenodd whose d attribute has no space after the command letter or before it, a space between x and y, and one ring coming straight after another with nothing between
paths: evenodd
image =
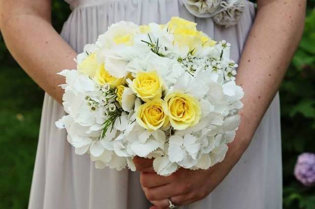
<instances>
[{"instance_id":1,"label":"round bouquet of white hydrangeas and yellow roses","mask_svg":"<svg viewBox=\"0 0 315 209\"><path fill-rule=\"evenodd\" d=\"M78 155L96 168L154 158L163 176L180 167L208 169L233 141L243 104L230 44L173 17L166 25L111 25L63 70L63 107L56 122Z\"/></svg>"}]
</instances>

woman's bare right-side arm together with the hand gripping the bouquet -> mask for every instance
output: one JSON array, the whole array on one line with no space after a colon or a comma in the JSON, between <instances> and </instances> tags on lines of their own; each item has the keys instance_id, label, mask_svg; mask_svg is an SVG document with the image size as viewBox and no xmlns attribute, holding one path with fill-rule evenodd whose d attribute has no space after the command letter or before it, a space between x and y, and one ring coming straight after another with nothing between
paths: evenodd
<instances>
[{"instance_id":1,"label":"woman's bare right-side arm together with the hand gripping the bouquet","mask_svg":"<svg viewBox=\"0 0 315 209\"><path fill-rule=\"evenodd\" d=\"M251 143L264 113L278 91L303 32L306 0L257 0L258 11L239 63L236 82L244 89L241 124L221 163L208 170L179 169L158 176L152 160L134 158L141 171L140 183L154 205L167 209L168 200L178 206L209 195L226 177Z\"/></svg>"}]
</instances>

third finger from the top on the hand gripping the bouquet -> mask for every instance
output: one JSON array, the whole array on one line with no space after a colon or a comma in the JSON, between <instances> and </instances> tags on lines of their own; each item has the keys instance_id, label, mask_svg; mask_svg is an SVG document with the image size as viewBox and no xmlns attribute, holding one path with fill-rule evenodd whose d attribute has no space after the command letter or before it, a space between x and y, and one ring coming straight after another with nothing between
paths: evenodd
<instances>
[{"instance_id":1,"label":"third finger from the top on the hand gripping the bouquet","mask_svg":"<svg viewBox=\"0 0 315 209\"><path fill-rule=\"evenodd\" d=\"M161 201L168 199L169 197L176 197L189 193L189 191L180 189L180 187L176 187L172 183L151 188L142 187L142 189L149 201Z\"/></svg>"}]
</instances>

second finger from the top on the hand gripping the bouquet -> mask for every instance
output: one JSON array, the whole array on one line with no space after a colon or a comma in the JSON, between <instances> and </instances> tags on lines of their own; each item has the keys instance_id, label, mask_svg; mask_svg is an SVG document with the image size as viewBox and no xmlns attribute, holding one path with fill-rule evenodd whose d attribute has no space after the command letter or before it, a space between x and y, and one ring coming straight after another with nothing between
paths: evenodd
<instances>
[{"instance_id":1,"label":"second finger from the top on the hand gripping the bouquet","mask_svg":"<svg viewBox=\"0 0 315 209\"><path fill-rule=\"evenodd\" d=\"M168 176L160 176L157 173L148 173L148 172L141 172L140 173L140 183L143 187L156 187L162 186L167 183L171 183L173 178Z\"/></svg>"}]
</instances>

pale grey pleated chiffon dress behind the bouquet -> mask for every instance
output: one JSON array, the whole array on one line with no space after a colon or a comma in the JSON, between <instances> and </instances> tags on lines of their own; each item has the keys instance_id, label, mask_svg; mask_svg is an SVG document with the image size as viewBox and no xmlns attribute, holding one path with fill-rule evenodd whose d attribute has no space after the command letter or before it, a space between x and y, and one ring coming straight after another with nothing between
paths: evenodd
<instances>
[{"instance_id":1,"label":"pale grey pleated chiffon dress behind the bouquet","mask_svg":"<svg viewBox=\"0 0 315 209\"><path fill-rule=\"evenodd\" d=\"M211 18L197 18L181 0L67 0L72 9L61 36L77 52L119 21L142 25L167 23L179 16L197 23L214 40L231 43L231 58L239 61L255 11L245 1L238 24L224 27ZM55 122L63 106L47 93L42 109L39 141L29 209L149 209L139 173L127 169L95 169L89 155L78 156ZM181 209L281 209L282 159L280 106L277 94L265 113L252 143L220 185L201 201Z\"/></svg>"}]
</instances>

